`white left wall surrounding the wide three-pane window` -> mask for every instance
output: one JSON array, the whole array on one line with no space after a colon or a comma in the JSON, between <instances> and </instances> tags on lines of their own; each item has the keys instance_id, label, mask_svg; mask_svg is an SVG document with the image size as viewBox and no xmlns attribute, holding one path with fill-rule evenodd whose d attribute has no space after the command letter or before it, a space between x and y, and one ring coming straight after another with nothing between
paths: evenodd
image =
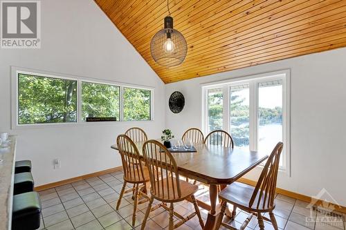
<instances>
[{"instance_id":1,"label":"white left wall surrounding the wide three-pane window","mask_svg":"<svg viewBox=\"0 0 346 230\"><path fill-rule=\"evenodd\" d=\"M42 46L37 50L0 50L0 132L17 134L17 160L33 161L35 185L120 166L110 146L130 126L159 137L165 125L165 86L92 0L45 0ZM155 89L154 122L10 129L10 66L78 75ZM54 170L52 160L62 161Z\"/></svg>"}]
</instances>

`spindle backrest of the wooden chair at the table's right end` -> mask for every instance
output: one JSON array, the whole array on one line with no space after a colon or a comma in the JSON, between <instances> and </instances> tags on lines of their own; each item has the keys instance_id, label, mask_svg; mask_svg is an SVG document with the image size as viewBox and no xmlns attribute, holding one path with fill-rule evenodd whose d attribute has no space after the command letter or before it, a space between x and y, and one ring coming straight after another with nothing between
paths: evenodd
<instances>
[{"instance_id":1,"label":"spindle backrest of the wooden chair at the table's right end","mask_svg":"<svg viewBox=\"0 0 346 230\"><path fill-rule=\"evenodd\" d=\"M282 142L278 142L271 155L268 157L260 178L255 186L255 190L253 191L249 207L252 207L257 199L257 209L273 209L277 171L279 170L280 155L283 146L284 144Z\"/></svg>"}]
</instances>

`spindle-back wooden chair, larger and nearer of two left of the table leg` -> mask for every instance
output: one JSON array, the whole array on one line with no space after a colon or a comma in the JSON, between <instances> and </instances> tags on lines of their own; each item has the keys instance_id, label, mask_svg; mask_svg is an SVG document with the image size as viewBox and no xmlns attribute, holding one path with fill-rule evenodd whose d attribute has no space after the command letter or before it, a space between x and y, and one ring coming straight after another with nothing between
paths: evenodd
<instances>
[{"instance_id":1,"label":"spindle-back wooden chair, larger and nearer of two left of the table leg","mask_svg":"<svg viewBox=\"0 0 346 230\"><path fill-rule=\"evenodd\" d=\"M143 146L143 155L149 169L151 196L141 229L145 229L145 224L150 211L158 207L163 207L167 211L170 211L170 230L181 226L181 224L193 218L194 215L198 216L199 224L201 224L203 229L204 224L201 218L201 213L199 212L197 201L194 198L194 193L198 191L198 186L179 180L178 167L176 166L176 162L170 151L168 151L160 142L149 140L145 142ZM173 204L188 198L192 200L195 212L184 218L182 215L174 211ZM152 209L154 199L162 203ZM169 208L166 203L170 203ZM174 225L173 215L181 220Z\"/></svg>"}]
</instances>

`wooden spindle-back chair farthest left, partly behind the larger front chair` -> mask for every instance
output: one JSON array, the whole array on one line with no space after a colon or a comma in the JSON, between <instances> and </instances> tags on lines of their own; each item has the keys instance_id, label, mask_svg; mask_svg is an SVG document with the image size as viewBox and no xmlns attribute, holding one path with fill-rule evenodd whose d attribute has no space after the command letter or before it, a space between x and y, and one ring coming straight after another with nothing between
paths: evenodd
<instances>
[{"instance_id":1,"label":"wooden spindle-back chair farthest left, partly behind the larger front chair","mask_svg":"<svg viewBox=\"0 0 346 230\"><path fill-rule=\"evenodd\" d=\"M145 183L149 182L149 171L147 169L147 166L143 165L142 162L140 162L138 149L134 142L130 139L130 137L128 137L127 135L119 135L116 142L119 148L119 153L121 155L122 169L124 170L124 184L122 185L120 196L116 204L116 210L119 209L122 195L124 195L124 193L129 193L132 191L134 195L134 213L132 215L132 226L134 226L134 224L136 223L137 205L149 200L147 194L140 191L140 184L143 184L143 186L145 187ZM134 184L134 187L125 191L127 183ZM138 202L138 198L140 197L140 195L142 195L145 199Z\"/></svg>"}]
</instances>

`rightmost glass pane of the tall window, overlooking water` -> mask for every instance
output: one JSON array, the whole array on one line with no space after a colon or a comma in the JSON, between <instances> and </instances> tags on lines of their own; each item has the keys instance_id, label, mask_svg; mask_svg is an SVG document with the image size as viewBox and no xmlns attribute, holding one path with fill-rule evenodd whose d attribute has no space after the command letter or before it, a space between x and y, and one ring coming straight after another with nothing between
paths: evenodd
<instances>
[{"instance_id":1,"label":"rightmost glass pane of the tall window, overlooking water","mask_svg":"<svg viewBox=\"0 0 346 230\"><path fill-rule=\"evenodd\" d=\"M270 154L282 142L282 82L260 83L258 97L258 149Z\"/></svg>"}]
</instances>

